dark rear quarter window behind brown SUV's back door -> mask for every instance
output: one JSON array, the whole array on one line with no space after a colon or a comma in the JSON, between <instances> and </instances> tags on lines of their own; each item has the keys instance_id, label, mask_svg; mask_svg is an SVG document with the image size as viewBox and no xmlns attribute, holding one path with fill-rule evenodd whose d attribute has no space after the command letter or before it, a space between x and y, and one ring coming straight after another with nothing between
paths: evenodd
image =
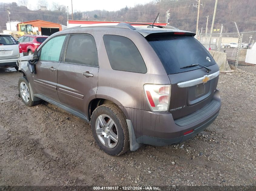
<instances>
[{"instance_id":1,"label":"dark rear quarter window behind brown SUV's back door","mask_svg":"<svg viewBox=\"0 0 256 191\"><path fill-rule=\"evenodd\" d=\"M137 73L147 72L139 50L130 39L117 35L104 35L103 40L112 69Z\"/></svg>"}]
</instances>

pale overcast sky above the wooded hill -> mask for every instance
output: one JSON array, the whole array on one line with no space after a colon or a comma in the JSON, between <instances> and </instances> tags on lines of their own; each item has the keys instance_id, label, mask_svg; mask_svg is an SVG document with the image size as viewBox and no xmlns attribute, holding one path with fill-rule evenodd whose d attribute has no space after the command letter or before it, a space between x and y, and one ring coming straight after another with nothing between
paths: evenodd
<instances>
[{"instance_id":1,"label":"pale overcast sky above the wooded hill","mask_svg":"<svg viewBox=\"0 0 256 191\"><path fill-rule=\"evenodd\" d=\"M27 0L28 8L35 9L37 7L37 0ZM68 6L71 12L71 0L46 0L48 1L48 10L51 8L52 2L59 3L61 5ZM151 0L72 0L73 11L93 11L93 10L107 10L107 11L117 11L121 8L134 7L137 4L145 4ZM0 0L0 2L10 3L16 2L19 4L19 0Z\"/></svg>"}]
</instances>

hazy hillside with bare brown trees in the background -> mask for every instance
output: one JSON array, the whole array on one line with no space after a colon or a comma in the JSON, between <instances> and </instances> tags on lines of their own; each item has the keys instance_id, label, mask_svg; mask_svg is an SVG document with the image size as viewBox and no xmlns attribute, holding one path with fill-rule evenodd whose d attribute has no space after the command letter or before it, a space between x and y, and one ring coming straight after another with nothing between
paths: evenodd
<instances>
[{"instance_id":1,"label":"hazy hillside with bare brown trees in the background","mask_svg":"<svg viewBox=\"0 0 256 191\"><path fill-rule=\"evenodd\" d=\"M74 20L97 20L97 21L131 21L131 22L152 22L159 14L159 22L165 22L165 14L170 9L170 25L183 30L195 31L197 8L195 0L156 0L145 5L125 7L119 11L84 11L74 12ZM206 16L209 15L208 29L211 27L214 12L215 0L201 0L199 26L206 27ZM18 6L17 3L0 4L0 31L6 28L8 21L6 8L10 9L10 20L30 21L45 20L59 24L67 24L67 9L64 5L52 5L49 11L29 10L25 6ZM255 0L218 0L214 28L224 26L223 32L236 32L234 21L240 31L256 30L256 1ZM70 10L69 10L70 11ZM84 18L83 18L84 15ZM69 14L71 19L71 14Z\"/></svg>"}]
</instances>

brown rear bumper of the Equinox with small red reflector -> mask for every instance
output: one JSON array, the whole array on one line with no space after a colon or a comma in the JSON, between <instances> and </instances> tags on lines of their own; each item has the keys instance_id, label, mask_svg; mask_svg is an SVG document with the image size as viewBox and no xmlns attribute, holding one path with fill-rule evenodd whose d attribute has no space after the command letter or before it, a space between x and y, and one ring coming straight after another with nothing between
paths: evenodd
<instances>
[{"instance_id":1,"label":"brown rear bumper of the Equinox with small red reflector","mask_svg":"<svg viewBox=\"0 0 256 191\"><path fill-rule=\"evenodd\" d=\"M221 99L218 90L215 91L213 100L208 105L177 120L173 120L169 112L151 112L121 107L127 119L131 120L128 128L134 129L136 143L155 146L177 144L194 137L216 119L220 108ZM191 132L184 135L188 131Z\"/></svg>"}]
</instances>

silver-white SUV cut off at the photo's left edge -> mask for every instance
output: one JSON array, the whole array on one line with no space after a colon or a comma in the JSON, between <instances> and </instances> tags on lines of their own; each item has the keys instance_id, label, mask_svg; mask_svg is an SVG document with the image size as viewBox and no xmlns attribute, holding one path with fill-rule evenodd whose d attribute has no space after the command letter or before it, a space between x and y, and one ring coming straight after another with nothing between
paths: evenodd
<instances>
[{"instance_id":1,"label":"silver-white SUV cut off at the photo's left edge","mask_svg":"<svg viewBox=\"0 0 256 191\"><path fill-rule=\"evenodd\" d=\"M16 62L22 56L21 46L12 35L0 33L0 67L14 67L18 70Z\"/></svg>"}]
</instances>

